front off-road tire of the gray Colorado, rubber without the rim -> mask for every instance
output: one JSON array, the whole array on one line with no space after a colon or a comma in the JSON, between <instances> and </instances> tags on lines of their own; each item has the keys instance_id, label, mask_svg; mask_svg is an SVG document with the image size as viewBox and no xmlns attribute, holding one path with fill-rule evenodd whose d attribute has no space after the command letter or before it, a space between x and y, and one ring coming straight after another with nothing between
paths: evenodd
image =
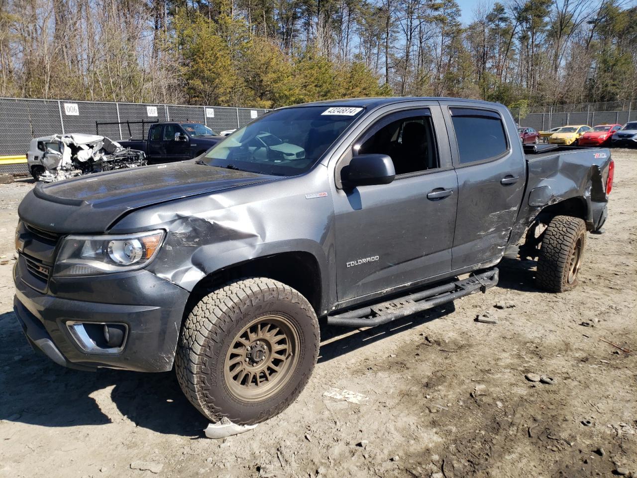
<instances>
[{"instance_id":1,"label":"front off-road tire of the gray Colorado, rubber without the rim","mask_svg":"<svg viewBox=\"0 0 637 478\"><path fill-rule=\"evenodd\" d=\"M274 316L282 317L290 331L294 330L296 359L273 395L242 400L232 391L232 379L224 374L231 363L227 357L247 326L261 317ZM303 295L276 280L243 279L213 291L192 309L180 334L175 370L183 393L203 416L211 421L227 417L236 424L255 424L296 400L317 362L318 345L317 316ZM237 385L234 387L236 390Z\"/></svg>"}]
</instances>

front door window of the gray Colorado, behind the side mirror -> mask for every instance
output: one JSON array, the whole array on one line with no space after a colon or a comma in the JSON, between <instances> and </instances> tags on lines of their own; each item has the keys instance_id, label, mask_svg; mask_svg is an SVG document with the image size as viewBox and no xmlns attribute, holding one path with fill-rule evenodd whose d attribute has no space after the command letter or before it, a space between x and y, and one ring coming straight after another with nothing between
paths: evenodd
<instances>
[{"instance_id":1,"label":"front door window of the gray Colorado, behind the side mirror","mask_svg":"<svg viewBox=\"0 0 637 478\"><path fill-rule=\"evenodd\" d=\"M438 168L429 110L399 112L378 120L355 143L354 154L387 154L396 175Z\"/></svg>"}]
</instances>

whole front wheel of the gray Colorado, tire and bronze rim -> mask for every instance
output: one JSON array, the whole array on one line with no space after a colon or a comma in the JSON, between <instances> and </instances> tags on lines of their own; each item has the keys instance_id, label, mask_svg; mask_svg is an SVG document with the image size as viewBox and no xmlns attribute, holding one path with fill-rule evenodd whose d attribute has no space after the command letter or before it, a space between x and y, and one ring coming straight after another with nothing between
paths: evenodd
<instances>
[{"instance_id":1,"label":"whole front wheel of the gray Colorado, tire and bronze rim","mask_svg":"<svg viewBox=\"0 0 637 478\"><path fill-rule=\"evenodd\" d=\"M296 290L239 280L208 294L183 325L175 357L183 393L211 421L265 421L294 402L318 358L318 320Z\"/></svg>"}]
</instances>

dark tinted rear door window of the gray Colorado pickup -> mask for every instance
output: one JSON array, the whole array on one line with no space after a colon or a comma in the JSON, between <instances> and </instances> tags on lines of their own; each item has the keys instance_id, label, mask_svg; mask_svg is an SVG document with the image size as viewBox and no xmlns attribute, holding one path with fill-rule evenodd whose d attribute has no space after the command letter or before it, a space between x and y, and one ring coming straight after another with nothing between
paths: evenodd
<instances>
[{"instance_id":1,"label":"dark tinted rear door window of the gray Colorado pickup","mask_svg":"<svg viewBox=\"0 0 637 478\"><path fill-rule=\"evenodd\" d=\"M473 108L450 108L460 164L493 159L508 150L505 127L497 113Z\"/></svg>"}]
</instances>

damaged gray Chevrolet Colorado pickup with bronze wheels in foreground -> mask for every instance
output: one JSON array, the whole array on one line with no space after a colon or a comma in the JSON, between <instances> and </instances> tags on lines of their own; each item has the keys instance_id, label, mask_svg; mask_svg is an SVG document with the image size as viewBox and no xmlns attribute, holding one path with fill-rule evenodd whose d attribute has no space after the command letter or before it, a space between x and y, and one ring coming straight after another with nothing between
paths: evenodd
<instances>
[{"instance_id":1,"label":"damaged gray Chevrolet Colorado pickup with bronze wheels in foreground","mask_svg":"<svg viewBox=\"0 0 637 478\"><path fill-rule=\"evenodd\" d=\"M578 283L606 220L607 149L531 145L503 105L371 98L263 115L203 156L37 185L19 208L15 314L60 365L176 369L209 419L301 393L318 319L367 327L497 283Z\"/></svg>"}]
</instances>

